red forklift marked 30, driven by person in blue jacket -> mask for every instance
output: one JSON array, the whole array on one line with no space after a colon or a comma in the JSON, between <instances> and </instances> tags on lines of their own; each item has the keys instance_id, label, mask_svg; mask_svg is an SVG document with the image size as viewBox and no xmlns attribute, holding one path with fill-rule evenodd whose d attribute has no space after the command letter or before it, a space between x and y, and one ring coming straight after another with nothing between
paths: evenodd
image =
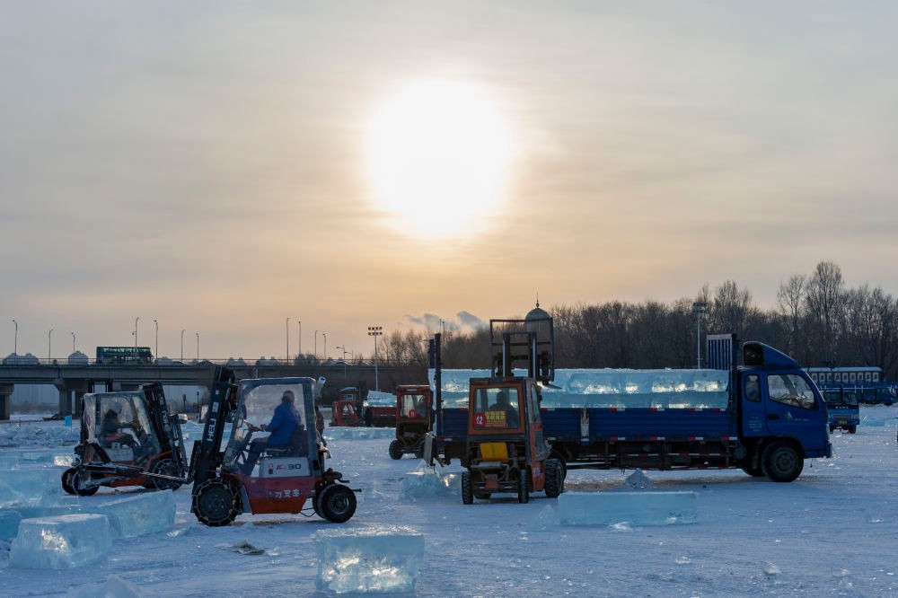
<instances>
[{"instance_id":1,"label":"red forklift marked 30, driven by person in blue jacket","mask_svg":"<svg viewBox=\"0 0 898 598\"><path fill-rule=\"evenodd\" d=\"M299 425L287 445L260 451L252 435L289 395ZM324 469L328 453L315 433L315 398L313 378L242 380L238 387L230 370L216 368L206 426L190 458L190 511L200 523L228 525L242 513L309 515L307 501L330 522L352 517L357 490L345 484L339 471ZM222 451L229 421L231 432Z\"/></svg>"}]
</instances>

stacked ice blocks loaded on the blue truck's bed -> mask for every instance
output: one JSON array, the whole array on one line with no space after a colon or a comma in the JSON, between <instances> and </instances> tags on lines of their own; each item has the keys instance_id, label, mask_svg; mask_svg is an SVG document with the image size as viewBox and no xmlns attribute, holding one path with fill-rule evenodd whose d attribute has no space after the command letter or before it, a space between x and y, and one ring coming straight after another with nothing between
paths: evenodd
<instances>
[{"instance_id":1,"label":"stacked ice blocks loaded on the blue truck's bed","mask_svg":"<svg viewBox=\"0 0 898 598\"><path fill-rule=\"evenodd\" d=\"M468 381L487 377L489 370L443 370L445 407L463 407ZM526 375L515 370L515 375ZM434 371L429 373L431 387ZM724 370L559 369L555 381L542 389L542 407L593 408L724 408L729 372Z\"/></svg>"}]
</instances>

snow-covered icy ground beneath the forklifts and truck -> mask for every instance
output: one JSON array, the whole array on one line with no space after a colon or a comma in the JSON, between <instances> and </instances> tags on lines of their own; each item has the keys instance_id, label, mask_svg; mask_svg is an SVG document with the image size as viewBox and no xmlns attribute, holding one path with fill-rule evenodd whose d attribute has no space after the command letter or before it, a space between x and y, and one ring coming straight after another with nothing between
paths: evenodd
<instances>
[{"instance_id":1,"label":"snow-covered icy ground beneath the forklifts and truck","mask_svg":"<svg viewBox=\"0 0 898 598\"><path fill-rule=\"evenodd\" d=\"M832 435L833 459L806 462L789 484L741 470L647 471L656 490L698 494L698 523L689 524L562 526L557 500L541 494L526 505L499 495L464 506L456 488L416 493L404 489L404 478L420 462L387 456L389 429L333 438L330 464L361 488L357 513L343 526L400 525L424 535L414 595L898 596L898 408L864 407L861 417L857 434ZM197 437L199 428L189 432ZM357 432L366 437L349 437ZM0 425L0 475L4 462L7 469L15 462L37 466L29 460L38 459L40 447L70 452L76 436L77 428L61 421ZM571 471L566 488L619 488L630 473ZM124 494L103 488L77 500ZM316 594L312 536L337 524L242 515L232 526L207 528L189 513L189 487L174 496L170 531L114 540L100 565L9 567L9 544L0 544L0 595L97 595L110 576L145 596ZM238 548L244 542L264 552L246 554L252 550Z\"/></svg>"}]
</instances>

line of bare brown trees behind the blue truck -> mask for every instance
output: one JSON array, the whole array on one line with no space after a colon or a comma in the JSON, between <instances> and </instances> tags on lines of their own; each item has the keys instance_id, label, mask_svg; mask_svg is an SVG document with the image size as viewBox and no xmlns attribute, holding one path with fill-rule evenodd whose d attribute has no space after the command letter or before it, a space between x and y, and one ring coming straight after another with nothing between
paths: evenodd
<instances>
[{"instance_id":1,"label":"line of bare brown trees behind the blue truck","mask_svg":"<svg viewBox=\"0 0 898 598\"><path fill-rule=\"evenodd\" d=\"M552 306L546 311L554 323L556 367L695 367L694 303L707 306L700 316L702 343L706 334L735 332L740 340L777 347L803 366L877 365L886 379L898 379L898 302L879 286L847 288L841 268L830 261L782 281L768 311L732 280L673 303ZM427 367L432 336L420 330L385 334L380 358ZM445 367L488 367L489 329L445 333L442 353Z\"/></svg>"}]
</instances>

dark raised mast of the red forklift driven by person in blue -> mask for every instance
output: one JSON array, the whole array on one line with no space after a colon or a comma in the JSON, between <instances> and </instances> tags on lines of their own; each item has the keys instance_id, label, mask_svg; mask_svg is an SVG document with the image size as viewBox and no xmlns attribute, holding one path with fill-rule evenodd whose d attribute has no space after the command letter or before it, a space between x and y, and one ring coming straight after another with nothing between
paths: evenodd
<instances>
[{"instance_id":1,"label":"dark raised mast of the red forklift driven by person in blue","mask_svg":"<svg viewBox=\"0 0 898 598\"><path fill-rule=\"evenodd\" d=\"M193 453L190 455L190 477L194 481L194 488L198 488L207 479L216 477L216 470L222 464L222 438L227 421L237 408L236 391L233 371L216 366L203 437L193 445Z\"/></svg>"}]
</instances>

